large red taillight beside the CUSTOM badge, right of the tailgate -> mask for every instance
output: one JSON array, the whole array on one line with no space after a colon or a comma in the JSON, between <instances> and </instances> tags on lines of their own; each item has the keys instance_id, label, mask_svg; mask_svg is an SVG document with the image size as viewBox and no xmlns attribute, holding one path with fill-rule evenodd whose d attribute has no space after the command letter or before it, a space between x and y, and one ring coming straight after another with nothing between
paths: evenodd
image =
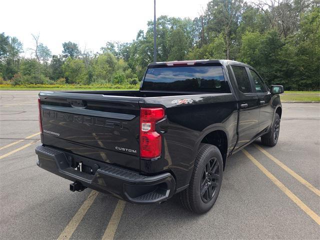
<instances>
[{"instance_id":1,"label":"large red taillight beside the CUSTOM badge, right of the tailgate","mask_svg":"<svg viewBox=\"0 0 320 240\"><path fill-rule=\"evenodd\" d=\"M161 135L155 124L164 118L163 108L140 109L140 157L155 158L161 155Z\"/></svg>"}]
</instances>

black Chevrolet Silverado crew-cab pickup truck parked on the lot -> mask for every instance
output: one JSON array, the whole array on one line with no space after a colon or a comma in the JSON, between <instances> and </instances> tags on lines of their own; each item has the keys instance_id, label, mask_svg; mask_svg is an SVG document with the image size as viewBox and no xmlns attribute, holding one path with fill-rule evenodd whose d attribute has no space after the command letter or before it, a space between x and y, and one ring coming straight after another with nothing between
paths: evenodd
<instances>
[{"instance_id":1,"label":"black Chevrolet Silverado crew-cab pickup truck parked on the lot","mask_svg":"<svg viewBox=\"0 0 320 240\"><path fill-rule=\"evenodd\" d=\"M149 64L139 91L40 92L37 165L132 202L214 204L226 159L279 136L282 86L227 60Z\"/></svg>"}]
</instances>

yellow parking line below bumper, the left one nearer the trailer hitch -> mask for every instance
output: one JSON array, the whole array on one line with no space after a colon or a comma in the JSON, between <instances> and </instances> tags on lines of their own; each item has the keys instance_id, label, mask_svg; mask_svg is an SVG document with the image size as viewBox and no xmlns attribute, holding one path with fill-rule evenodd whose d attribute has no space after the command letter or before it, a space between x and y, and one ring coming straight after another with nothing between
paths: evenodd
<instances>
[{"instance_id":1,"label":"yellow parking line below bumper, the left one nearer the trailer hitch","mask_svg":"<svg viewBox=\"0 0 320 240\"><path fill-rule=\"evenodd\" d=\"M71 237L72 233L74 232L75 228L78 226L80 221L82 220L83 216L85 215L86 211L90 208L92 202L94 201L96 195L98 194L97 191L92 190L85 201L82 203L80 208L77 210L75 215L72 217L70 222L66 225L64 230L58 237L58 240L67 240Z\"/></svg>"}]
</instances>

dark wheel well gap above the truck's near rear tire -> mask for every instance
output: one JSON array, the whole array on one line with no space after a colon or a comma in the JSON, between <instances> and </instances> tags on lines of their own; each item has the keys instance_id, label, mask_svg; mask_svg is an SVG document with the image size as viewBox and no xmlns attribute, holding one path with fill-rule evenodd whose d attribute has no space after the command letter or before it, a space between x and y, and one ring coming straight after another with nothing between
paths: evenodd
<instances>
[{"instance_id":1,"label":"dark wheel well gap above the truck's near rear tire","mask_svg":"<svg viewBox=\"0 0 320 240\"><path fill-rule=\"evenodd\" d=\"M216 146L221 155L223 160L223 169L225 166L225 160L226 160L226 151L228 148L227 144L227 138L225 132L221 130L216 130L213 132L208 133L205 135L205 137L202 139L201 143L207 143Z\"/></svg>"}]
</instances>

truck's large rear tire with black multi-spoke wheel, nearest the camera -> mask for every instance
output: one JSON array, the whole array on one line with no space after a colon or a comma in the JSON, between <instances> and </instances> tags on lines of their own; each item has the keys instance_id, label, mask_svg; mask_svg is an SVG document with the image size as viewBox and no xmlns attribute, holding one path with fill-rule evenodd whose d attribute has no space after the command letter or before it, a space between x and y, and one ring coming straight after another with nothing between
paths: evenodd
<instances>
[{"instance_id":1,"label":"truck's large rear tire with black multi-spoke wheel, nearest the camera","mask_svg":"<svg viewBox=\"0 0 320 240\"><path fill-rule=\"evenodd\" d=\"M189 186L179 192L181 204L198 214L210 210L218 197L222 176L223 161L219 149L216 146L201 143L195 157Z\"/></svg>"}]
</instances>

